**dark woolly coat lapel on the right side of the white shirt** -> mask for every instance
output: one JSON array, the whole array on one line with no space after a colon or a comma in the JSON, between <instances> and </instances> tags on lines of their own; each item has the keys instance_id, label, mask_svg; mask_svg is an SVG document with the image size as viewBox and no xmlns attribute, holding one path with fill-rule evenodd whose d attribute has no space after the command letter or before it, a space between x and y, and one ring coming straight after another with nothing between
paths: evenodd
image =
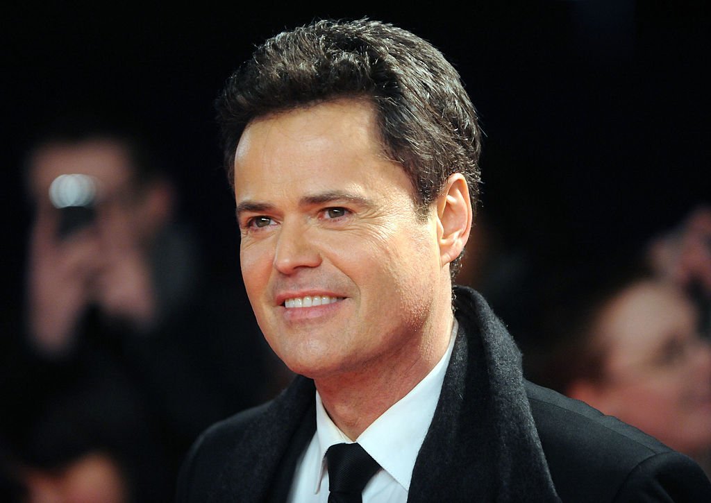
<instances>
[{"instance_id":1,"label":"dark woolly coat lapel on the right side of the white shirt","mask_svg":"<svg viewBox=\"0 0 711 503\"><path fill-rule=\"evenodd\" d=\"M520 352L478 293L456 295L459 333L408 501L558 501Z\"/></svg>"}]
</instances>

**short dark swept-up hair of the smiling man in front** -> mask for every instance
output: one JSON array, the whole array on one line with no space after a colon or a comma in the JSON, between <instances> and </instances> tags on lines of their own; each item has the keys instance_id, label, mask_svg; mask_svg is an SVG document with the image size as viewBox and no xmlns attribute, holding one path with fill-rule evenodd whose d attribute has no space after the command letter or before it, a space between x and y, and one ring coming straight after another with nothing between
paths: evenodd
<instances>
[{"instance_id":1,"label":"short dark swept-up hair of the smiling man in front","mask_svg":"<svg viewBox=\"0 0 711 503\"><path fill-rule=\"evenodd\" d=\"M419 210L452 173L466 177L476 209L481 131L459 74L427 41L368 19L279 33L232 74L216 102L230 183L252 119L342 97L373 103L384 151L412 180Z\"/></svg>"}]
</instances>

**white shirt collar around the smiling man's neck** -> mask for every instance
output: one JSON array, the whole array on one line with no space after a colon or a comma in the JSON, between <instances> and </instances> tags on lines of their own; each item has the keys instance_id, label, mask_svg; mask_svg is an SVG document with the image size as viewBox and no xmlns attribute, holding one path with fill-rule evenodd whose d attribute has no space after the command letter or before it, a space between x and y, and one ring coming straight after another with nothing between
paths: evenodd
<instances>
[{"instance_id":1,"label":"white shirt collar around the smiling man's neck","mask_svg":"<svg viewBox=\"0 0 711 503\"><path fill-rule=\"evenodd\" d=\"M392 404L390 409L373 421L356 439L383 470L407 491L410 490L417 453L422 447L424 436L427 435L429 423L432 423L434 409L437 408L458 327L455 318L447 351L429 374L417 383L410 393ZM336 443L353 442L328 416L319 391L316 391L316 438L319 442L321 463L318 465L319 473L316 474L314 493L321 489L321 481L326 472L326 450Z\"/></svg>"}]
</instances>

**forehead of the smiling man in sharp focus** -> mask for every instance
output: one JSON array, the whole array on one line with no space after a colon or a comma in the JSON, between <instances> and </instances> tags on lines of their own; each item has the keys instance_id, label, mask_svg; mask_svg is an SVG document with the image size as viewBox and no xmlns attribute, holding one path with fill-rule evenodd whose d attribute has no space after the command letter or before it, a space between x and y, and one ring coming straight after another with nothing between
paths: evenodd
<instances>
[{"instance_id":1,"label":"forehead of the smiling man in sharp focus","mask_svg":"<svg viewBox=\"0 0 711 503\"><path fill-rule=\"evenodd\" d=\"M237 201L289 196L333 185L414 193L399 163L383 153L373 106L341 99L252 121L235 152Z\"/></svg>"}]
</instances>

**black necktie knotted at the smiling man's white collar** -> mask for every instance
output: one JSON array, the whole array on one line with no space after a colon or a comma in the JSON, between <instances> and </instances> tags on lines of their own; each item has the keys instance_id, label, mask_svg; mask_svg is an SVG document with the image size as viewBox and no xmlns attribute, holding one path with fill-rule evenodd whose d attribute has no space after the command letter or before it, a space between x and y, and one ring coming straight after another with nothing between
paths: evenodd
<instances>
[{"instance_id":1,"label":"black necktie knotted at the smiling man's white collar","mask_svg":"<svg viewBox=\"0 0 711 503\"><path fill-rule=\"evenodd\" d=\"M360 503L363 487L380 465L357 443L337 443L326 451L328 503Z\"/></svg>"}]
</instances>

